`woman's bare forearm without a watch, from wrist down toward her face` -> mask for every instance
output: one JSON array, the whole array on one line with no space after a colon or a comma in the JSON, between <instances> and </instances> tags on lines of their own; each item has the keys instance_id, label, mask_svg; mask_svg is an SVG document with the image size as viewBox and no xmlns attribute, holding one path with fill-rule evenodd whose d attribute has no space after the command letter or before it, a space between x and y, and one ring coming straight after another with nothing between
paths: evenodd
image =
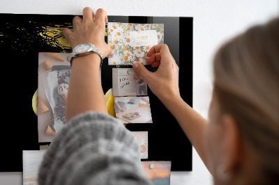
<instances>
[{"instance_id":1,"label":"woman's bare forearm without a watch, from wrist down toward her face","mask_svg":"<svg viewBox=\"0 0 279 185\"><path fill-rule=\"evenodd\" d=\"M206 157L204 154L204 127L206 120L202 118L193 108L191 108L180 96L168 96L166 99L161 99L167 109L174 115L179 122L184 133L192 143L193 147L199 154L204 164Z\"/></svg>"}]
</instances>

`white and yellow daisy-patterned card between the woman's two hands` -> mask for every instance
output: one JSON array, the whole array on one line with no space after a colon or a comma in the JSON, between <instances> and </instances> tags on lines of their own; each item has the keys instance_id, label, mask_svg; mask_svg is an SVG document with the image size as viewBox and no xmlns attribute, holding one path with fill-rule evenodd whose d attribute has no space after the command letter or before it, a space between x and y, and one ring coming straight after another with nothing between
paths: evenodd
<instances>
[{"instance_id":1,"label":"white and yellow daisy-patterned card between the woman's two hands","mask_svg":"<svg viewBox=\"0 0 279 185\"><path fill-rule=\"evenodd\" d=\"M107 42L114 51L109 65L146 65L149 49L164 43L164 24L108 22Z\"/></svg>"}]
</instances>

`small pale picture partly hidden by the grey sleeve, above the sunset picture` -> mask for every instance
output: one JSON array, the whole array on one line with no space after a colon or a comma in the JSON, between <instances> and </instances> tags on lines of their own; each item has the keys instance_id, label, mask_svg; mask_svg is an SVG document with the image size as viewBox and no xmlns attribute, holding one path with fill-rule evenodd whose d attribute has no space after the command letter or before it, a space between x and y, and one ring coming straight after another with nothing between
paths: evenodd
<instances>
[{"instance_id":1,"label":"small pale picture partly hidden by the grey sleeve, above the sunset picture","mask_svg":"<svg viewBox=\"0 0 279 185\"><path fill-rule=\"evenodd\" d=\"M141 159L148 159L148 131L132 131L140 145Z\"/></svg>"}]
</instances>

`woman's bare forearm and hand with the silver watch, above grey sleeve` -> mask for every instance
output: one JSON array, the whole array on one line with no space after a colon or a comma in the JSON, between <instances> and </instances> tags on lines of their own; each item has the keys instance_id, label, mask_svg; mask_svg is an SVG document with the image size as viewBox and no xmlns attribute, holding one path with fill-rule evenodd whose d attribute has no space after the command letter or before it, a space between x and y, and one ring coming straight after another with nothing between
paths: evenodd
<instances>
[{"instance_id":1,"label":"woman's bare forearm and hand with the silver watch, above grey sleeve","mask_svg":"<svg viewBox=\"0 0 279 185\"><path fill-rule=\"evenodd\" d=\"M83 19L75 16L73 30L63 29L63 35L72 49L77 45L91 43L103 58L112 57L114 52L105 42L107 12L101 8L96 15L89 7L83 10ZM67 102L67 122L85 111L107 112L105 97L100 82L100 56L93 53L73 59Z\"/></svg>"}]
</instances>

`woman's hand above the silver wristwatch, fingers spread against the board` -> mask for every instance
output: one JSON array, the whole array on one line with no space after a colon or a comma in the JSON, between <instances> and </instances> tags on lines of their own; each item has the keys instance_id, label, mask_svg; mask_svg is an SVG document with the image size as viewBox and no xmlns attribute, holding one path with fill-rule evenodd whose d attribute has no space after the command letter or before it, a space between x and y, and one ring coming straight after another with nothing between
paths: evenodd
<instances>
[{"instance_id":1,"label":"woman's hand above the silver wristwatch, fingers spread against the board","mask_svg":"<svg viewBox=\"0 0 279 185\"><path fill-rule=\"evenodd\" d=\"M73 19L73 31L63 29L63 35L70 42L72 49L77 45L91 43L95 45L103 57L114 55L110 46L105 42L105 24L107 24L107 12L99 8L94 15L91 8L83 9L83 19L76 16Z\"/></svg>"}]
</instances>

